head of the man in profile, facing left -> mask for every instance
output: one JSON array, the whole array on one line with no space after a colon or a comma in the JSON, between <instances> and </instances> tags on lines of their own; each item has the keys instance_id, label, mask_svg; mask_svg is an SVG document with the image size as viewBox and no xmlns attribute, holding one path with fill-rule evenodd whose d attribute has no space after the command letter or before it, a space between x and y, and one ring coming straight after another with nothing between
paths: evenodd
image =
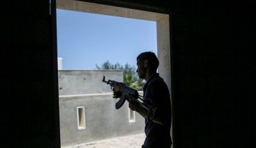
<instances>
[{"instance_id":1,"label":"head of the man in profile, facing left","mask_svg":"<svg viewBox=\"0 0 256 148\"><path fill-rule=\"evenodd\" d=\"M143 52L137 56L138 76L140 78L146 78L146 73L156 73L159 61L154 52Z\"/></svg>"}]
</instances>

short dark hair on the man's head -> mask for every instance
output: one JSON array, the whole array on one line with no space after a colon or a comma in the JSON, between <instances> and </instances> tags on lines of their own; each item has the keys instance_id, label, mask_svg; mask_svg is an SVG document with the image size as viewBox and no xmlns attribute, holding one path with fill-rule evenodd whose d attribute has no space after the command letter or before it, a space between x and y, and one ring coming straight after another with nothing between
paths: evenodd
<instances>
[{"instance_id":1,"label":"short dark hair on the man's head","mask_svg":"<svg viewBox=\"0 0 256 148\"><path fill-rule=\"evenodd\" d=\"M154 52L143 52L137 56L137 60L140 59L141 61L144 62L144 60L147 59L148 65L152 70L156 71L157 67L159 65L158 58L156 57L156 54Z\"/></svg>"}]
</instances>

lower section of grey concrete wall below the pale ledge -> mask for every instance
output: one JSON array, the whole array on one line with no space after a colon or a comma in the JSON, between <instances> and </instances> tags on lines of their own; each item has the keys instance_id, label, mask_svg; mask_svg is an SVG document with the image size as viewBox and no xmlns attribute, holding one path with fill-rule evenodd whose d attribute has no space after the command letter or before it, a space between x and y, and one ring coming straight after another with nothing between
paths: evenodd
<instances>
[{"instance_id":1,"label":"lower section of grey concrete wall below the pale ledge","mask_svg":"<svg viewBox=\"0 0 256 148\"><path fill-rule=\"evenodd\" d=\"M129 123L128 103L116 109L112 94L60 97L60 137L62 146L143 133L145 120L136 113ZM77 127L77 108L84 107L85 129Z\"/></svg>"}]
</instances>

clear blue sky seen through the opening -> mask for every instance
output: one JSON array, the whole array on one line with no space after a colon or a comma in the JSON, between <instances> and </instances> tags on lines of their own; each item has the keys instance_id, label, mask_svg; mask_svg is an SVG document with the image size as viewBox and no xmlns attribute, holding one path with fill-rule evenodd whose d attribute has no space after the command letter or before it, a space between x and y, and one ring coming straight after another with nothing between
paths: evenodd
<instances>
[{"instance_id":1,"label":"clear blue sky seen through the opening","mask_svg":"<svg viewBox=\"0 0 256 148\"><path fill-rule=\"evenodd\" d=\"M155 21L57 10L63 70L96 70L106 61L136 66L136 57L146 51L157 51Z\"/></svg>"}]
</instances>

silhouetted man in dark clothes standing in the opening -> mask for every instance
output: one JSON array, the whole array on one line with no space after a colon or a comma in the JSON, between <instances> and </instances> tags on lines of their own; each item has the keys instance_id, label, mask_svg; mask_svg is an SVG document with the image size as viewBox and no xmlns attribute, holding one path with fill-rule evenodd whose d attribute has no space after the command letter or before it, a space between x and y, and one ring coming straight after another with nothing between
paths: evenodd
<instances>
[{"instance_id":1,"label":"silhouetted man in dark clothes standing in the opening","mask_svg":"<svg viewBox=\"0 0 256 148\"><path fill-rule=\"evenodd\" d=\"M143 98L152 103L152 109L146 109L136 101L129 102L129 108L145 118L146 138L142 148L170 148L172 108L170 93L163 78L156 72L159 61L154 52L143 52L137 57L139 78L145 79Z\"/></svg>"}]
</instances>

